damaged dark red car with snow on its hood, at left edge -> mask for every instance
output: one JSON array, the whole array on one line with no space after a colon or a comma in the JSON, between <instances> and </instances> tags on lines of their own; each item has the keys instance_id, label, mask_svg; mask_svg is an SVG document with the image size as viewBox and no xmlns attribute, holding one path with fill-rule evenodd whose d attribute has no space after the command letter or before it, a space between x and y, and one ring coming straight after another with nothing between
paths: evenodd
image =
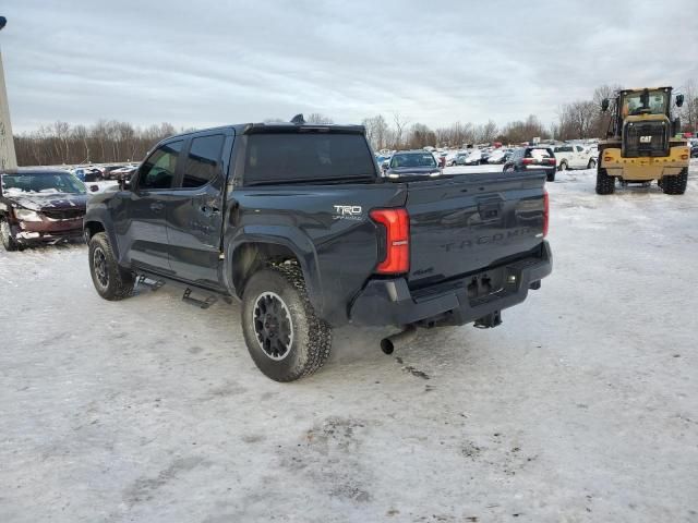
<instances>
[{"instance_id":1,"label":"damaged dark red car with snow on its hood, at left edge","mask_svg":"<svg viewBox=\"0 0 698 523\"><path fill-rule=\"evenodd\" d=\"M0 172L0 240L5 251L83 238L85 185L68 171Z\"/></svg>"}]
</instances>

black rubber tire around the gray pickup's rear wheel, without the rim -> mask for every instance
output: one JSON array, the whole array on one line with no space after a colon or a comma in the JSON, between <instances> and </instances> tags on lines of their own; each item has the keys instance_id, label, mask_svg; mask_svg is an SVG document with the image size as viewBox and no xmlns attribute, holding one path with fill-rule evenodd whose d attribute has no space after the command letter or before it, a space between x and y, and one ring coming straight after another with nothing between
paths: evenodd
<instances>
[{"instance_id":1,"label":"black rubber tire around the gray pickup's rear wheel, without the rim","mask_svg":"<svg viewBox=\"0 0 698 523\"><path fill-rule=\"evenodd\" d=\"M292 340L282 360L273 360L263 349L255 327L255 305L265 293L278 296L290 313ZM332 349L332 327L315 315L308 297L303 272L285 263L258 270L242 295L242 332L257 368L275 381L294 381L321 368Z\"/></svg>"}]
</instances>

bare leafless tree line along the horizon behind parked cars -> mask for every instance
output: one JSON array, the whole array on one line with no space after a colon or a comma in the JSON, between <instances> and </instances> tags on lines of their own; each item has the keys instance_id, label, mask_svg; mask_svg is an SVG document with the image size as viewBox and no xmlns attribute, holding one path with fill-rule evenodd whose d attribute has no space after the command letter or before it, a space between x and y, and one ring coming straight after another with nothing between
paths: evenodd
<instances>
[{"instance_id":1,"label":"bare leafless tree line along the horizon behind parked cars","mask_svg":"<svg viewBox=\"0 0 698 523\"><path fill-rule=\"evenodd\" d=\"M422 148L425 146L462 147L467 144L520 144L533 137L559 141L605 137L611 119L610 112L601 111L601 100L612 98L619 89L617 85L602 85L594 89L590 99L564 104L556 110L557 119L549 125L534 114L524 120L498 126L492 120L486 123L455 122L448 126L432 129L420 122L393 113L365 118L361 123L366 137L375 150ZM686 82L676 92L684 94L684 106L674 107L682 119L683 130L698 131L698 87L695 81ZM267 119L265 122L281 122ZM334 123L330 117L311 113L308 123ZM128 122L99 120L91 126L70 125L57 121L43 125L37 131L14 136L20 166L108 163L140 161L147 150L160 139L185 131L170 123L136 127Z\"/></svg>"}]
</instances>

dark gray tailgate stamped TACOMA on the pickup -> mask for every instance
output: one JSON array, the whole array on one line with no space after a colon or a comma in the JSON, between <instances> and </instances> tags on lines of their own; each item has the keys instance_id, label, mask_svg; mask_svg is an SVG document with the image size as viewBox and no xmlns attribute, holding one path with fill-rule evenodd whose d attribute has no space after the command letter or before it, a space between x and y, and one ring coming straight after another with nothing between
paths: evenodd
<instances>
[{"instance_id":1,"label":"dark gray tailgate stamped TACOMA on the pickup","mask_svg":"<svg viewBox=\"0 0 698 523\"><path fill-rule=\"evenodd\" d=\"M408 183L411 289L481 271L543 241L544 174L461 174Z\"/></svg>"}]
</instances>

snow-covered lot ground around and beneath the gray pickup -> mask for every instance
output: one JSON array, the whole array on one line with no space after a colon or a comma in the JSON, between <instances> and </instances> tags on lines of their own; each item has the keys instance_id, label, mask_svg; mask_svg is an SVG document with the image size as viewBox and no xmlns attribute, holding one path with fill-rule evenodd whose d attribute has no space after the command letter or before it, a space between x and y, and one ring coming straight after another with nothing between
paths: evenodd
<instances>
[{"instance_id":1,"label":"snow-covered lot ground around and beneath the gray pickup","mask_svg":"<svg viewBox=\"0 0 698 523\"><path fill-rule=\"evenodd\" d=\"M553 276L500 328L341 329L290 385L238 305L0 252L0 521L697 521L698 165L684 196L549 191Z\"/></svg>"}]
</instances>

